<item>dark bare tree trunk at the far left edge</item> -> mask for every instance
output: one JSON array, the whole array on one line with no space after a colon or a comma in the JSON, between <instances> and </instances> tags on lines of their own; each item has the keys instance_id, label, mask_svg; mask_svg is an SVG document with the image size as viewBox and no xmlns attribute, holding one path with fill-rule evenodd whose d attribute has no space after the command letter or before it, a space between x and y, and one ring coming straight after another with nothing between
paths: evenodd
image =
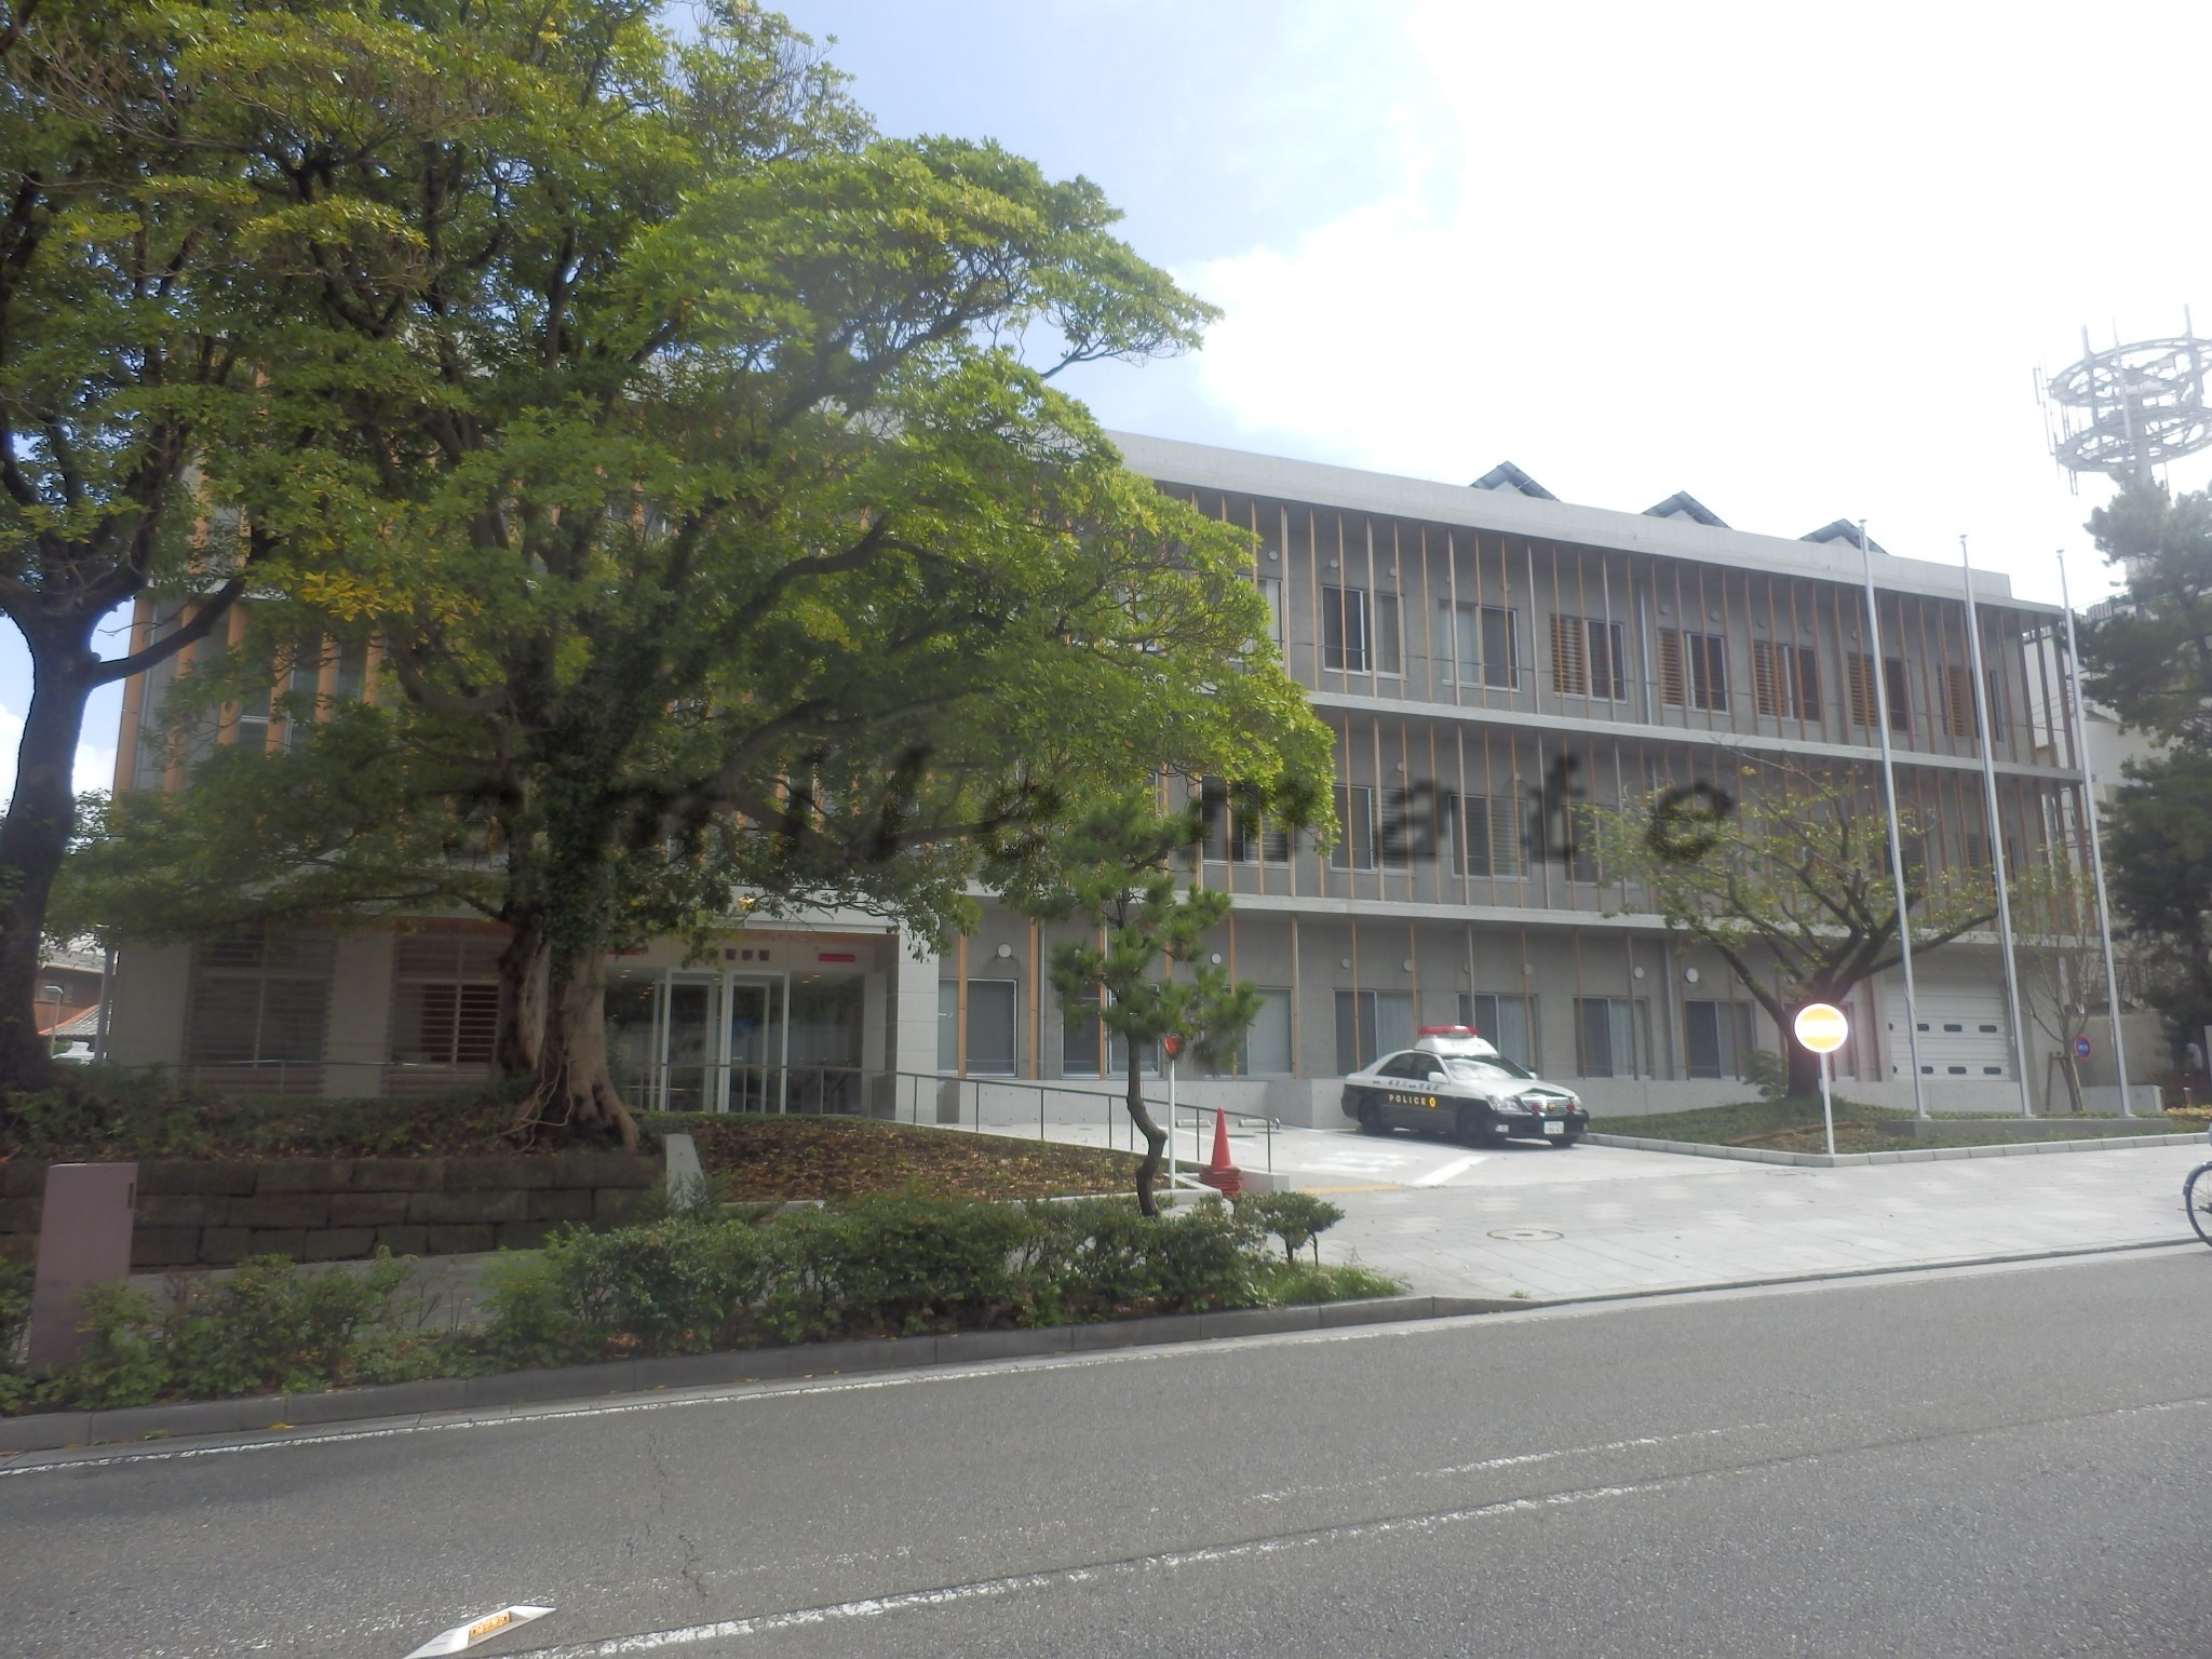
<instances>
[{"instance_id":1,"label":"dark bare tree trunk at the far left edge","mask_svg":"<svg viewBox=\"0 0 2212 1659\"><path fill-rule=\"evenodd\" d=\"M15 796L0 818L0 1091L49 1088L55 1079L51 1046L38 1033L40 958L46 900L77 827L77 734L91 690L46 661L33 672Z\"/></svg>"}]
</instances>

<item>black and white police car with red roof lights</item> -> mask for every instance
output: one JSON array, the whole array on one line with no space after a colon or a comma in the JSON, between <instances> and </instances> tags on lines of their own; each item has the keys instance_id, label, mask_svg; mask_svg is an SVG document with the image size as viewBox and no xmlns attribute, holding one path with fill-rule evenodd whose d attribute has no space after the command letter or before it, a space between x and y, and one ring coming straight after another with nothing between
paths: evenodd
<instances>
[{"instance_id":1,"label":"black and white police car with red roof lights","mask_svg":"<svg viewBox=\"0 0 2212 1659\"><path fill-rule=\"evenodd\" d=\"M1369 1135L1425 1128L1478 1146L1513 1137L1573 1146L1590 1128L1571 1088L1515 1066L1473 1026L1422 1026L1411 1048L1345 1077L1343 1108Z\"/></svg>"}]
</instances>

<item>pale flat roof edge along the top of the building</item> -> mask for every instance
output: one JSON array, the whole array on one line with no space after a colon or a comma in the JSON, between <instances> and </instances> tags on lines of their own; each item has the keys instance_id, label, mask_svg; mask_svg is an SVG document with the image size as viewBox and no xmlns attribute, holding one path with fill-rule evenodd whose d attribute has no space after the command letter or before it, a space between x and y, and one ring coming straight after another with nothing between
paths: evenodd
<instances>
[{"instance_id":1,"label":"pale flat roof edge along the top of the building","mask_svg":"<svg viewBox=\"0 0 2212 1659\"><path fill-rule=\"evenodd\" d=\"M1798 542L1787 535L1759 535L1721 524L1699 524L1688 518L1648 518L1606 507L1537 500L1520 491L1471 489L1431 478L1398 478L1358 467L1332 467L1318 460L1287 456L1254 456L1243 449L1192 445L1177 438L1148 438L1135 431L1108 431L1133 471L1161 484L1221 489L1239 495L1338 507L1380 518L1427 520L1431 524L1464 524L1473 531L1528 535L1544 542L1571 542L1619 553L1648 553L1668 560L1723 564L1736 571L1781 571L1823 582L1865 586L1860 553L1849 542ZM1958 599L1960 566L1933 560L1900 560L1876 551L1874 586L1885 593L1911 593L1927 599ZM2002 571L1973 573L1975 604L2004 604L2011 611L2057 617L2059 606L2039 599L2015 599L2013 580Z\"/></svg>"}]
</instances>

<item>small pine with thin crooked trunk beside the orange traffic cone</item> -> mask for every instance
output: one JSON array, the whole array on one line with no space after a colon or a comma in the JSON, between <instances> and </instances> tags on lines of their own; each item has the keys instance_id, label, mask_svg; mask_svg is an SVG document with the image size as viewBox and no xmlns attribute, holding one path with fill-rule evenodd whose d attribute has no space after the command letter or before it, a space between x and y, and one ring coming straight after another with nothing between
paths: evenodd
<instances>
[{"instance_id":1,"label":"small pine with thin crooked trunk beside the orange traffic cone","mask_svg":"<svg viewBox=\"0 0 2212 1659\"><path fill-rule=\"evenodd\" d=\"M1053 947L1051 978L1068 1024L1097 1018L1128 1044L1128 1117L1144 1135L1137 1208L1159 1214L1159 1177L1168 1130L1144 1104L1144 1053L1166 1040L1219 1064L1237 1051L1259 1018L1250 982L1203 960L1206 931L1221 922L1230 896L1177 889L1175 858L1203 834L1199 807L1161 812L1150 794L1128 794L1084 812L1037 863L1009 880L1006 898L1044 922L1082 920L1093 940ZM1188 980L1157 978L1161 962L1194 962ZM1097 1006L1093 1006L1097 998Z\"/></svg>"}]
</instances>

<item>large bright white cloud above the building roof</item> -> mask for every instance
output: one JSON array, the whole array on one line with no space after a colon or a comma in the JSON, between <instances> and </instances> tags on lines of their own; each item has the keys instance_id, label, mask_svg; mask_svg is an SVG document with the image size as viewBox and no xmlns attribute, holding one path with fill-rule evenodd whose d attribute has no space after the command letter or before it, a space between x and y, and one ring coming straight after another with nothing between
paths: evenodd
<instances>
[{"instance_id":1,"label":"large bright white cloud above the building roof","mask_svg":"<svg viewBox=\"0 0 2212 1659\"><path fill-rule=\"evenodd\" d=\"M2064 544L2095 591L2104 489L2051 467L2033 369L2084 316L2106 343L2199 299L2212 327L2212 226L2062 122L2068 15L1920 9L1896 51L1876 13L1420 7L1429 73L1369 128L1396 186L1179 272L1228 312L1179 378L1230 431L1190 436L1455 482L1511 458L1778 535L1865 515L1933 560L1971 531L2037 597ZM2128 122L2130 155L2197 148L2185 100Z\"/></svg>"}]
</instances>

